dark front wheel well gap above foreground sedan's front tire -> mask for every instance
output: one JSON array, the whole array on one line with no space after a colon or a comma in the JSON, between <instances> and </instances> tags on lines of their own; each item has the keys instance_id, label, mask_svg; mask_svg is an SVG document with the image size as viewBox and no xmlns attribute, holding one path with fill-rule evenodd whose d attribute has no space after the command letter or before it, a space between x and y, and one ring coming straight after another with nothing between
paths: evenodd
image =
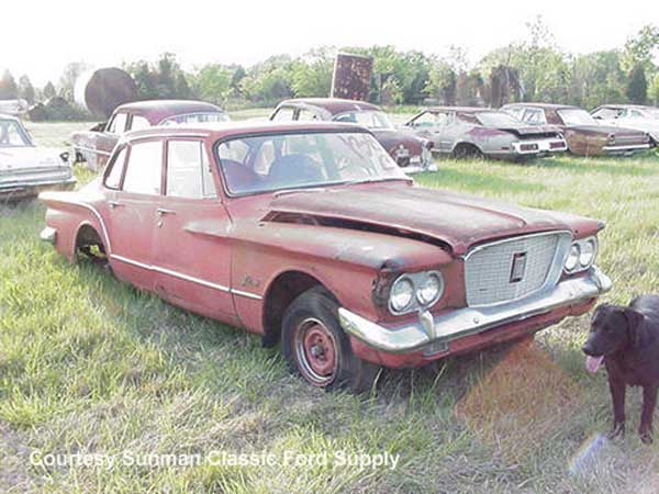
<instances>
[{"instance_id":1,"label":"dark front wheel well gap above foreground sedan's front tire","mask_svg":"<svg viewBox=\"0 0 659 494\"><path fill-rule=\"evenodd\" d=\"M286 310L293 300L314 287L324 288L317 279L301 271L283 272L272 281L264 308L264 346L277 345Z\"/></svg>"}]
</instances>

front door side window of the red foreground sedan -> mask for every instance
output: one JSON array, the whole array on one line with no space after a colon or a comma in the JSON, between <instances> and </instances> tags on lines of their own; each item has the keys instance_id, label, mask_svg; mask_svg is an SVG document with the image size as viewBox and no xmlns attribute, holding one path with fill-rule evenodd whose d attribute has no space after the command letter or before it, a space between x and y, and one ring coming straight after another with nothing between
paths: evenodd
<instances>
[{"instance_id":1,"label":"front door side window of the red foreground sedan","mask_svg":"<svg viewBox=\"0 0 659 494\"><path fill-rule=\"evenodd\" d=\"M200 141L167 143L167 195L188 199L217 197Z\"/></svg>"}]
</instances>

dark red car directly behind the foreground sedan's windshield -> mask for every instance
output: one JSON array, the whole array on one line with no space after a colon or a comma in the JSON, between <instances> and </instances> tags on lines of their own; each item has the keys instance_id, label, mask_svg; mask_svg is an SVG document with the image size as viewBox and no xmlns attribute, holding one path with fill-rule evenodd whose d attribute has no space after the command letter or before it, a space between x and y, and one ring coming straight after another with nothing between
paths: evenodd
<instances>
[{"instance_id":1,"label":"dark red car directly behind the foreground sedan's windshield","mask_svg":"<svg viewBox=\"0 0 659 494\"><path fill-rule=\"evenodd\" d=\"M339 98L305 98L279 103L270 120L334 121L364 125L406 173L434 171L432 143L393 126L387 113L365 101Z\"/></svg>"}]
</instances>

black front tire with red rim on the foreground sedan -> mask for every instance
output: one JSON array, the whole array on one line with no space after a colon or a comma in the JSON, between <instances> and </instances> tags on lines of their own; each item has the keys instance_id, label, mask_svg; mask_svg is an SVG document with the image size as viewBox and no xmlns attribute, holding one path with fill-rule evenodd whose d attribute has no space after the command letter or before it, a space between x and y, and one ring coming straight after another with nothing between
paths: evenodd
<instances>
[{"instance_id":1,"label":"black front tire with red rim on the foreground sedan","mask_svg":"<svg viewBox=\"0 0 659 494\"><path fill-rule=\"evenodd\" d=\"M310 341L315 341L311 348ZM281 346L291 372L325 391L368 391L379 370L353 353L338 322L338 304L322 287L305 291L286 310ZM320 349L317 353L314 348Z\"/></svg>"}]
</instances>

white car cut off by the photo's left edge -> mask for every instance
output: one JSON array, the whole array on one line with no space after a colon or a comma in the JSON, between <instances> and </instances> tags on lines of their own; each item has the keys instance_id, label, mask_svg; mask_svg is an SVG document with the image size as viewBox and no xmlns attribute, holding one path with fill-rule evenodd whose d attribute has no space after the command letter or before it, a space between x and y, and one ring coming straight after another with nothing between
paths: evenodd
<instances>
[{"instance_id":1,"label":"white car cut off by the photo's left edge","mask_svg":"<svg viewBox=\"0 0 659 494\"><path fill-rule=\"evenodd\" d=\"M75 184L68 153L36 146L19 119L0 114L0 202Z\"/></svg>"}]
</instances>

